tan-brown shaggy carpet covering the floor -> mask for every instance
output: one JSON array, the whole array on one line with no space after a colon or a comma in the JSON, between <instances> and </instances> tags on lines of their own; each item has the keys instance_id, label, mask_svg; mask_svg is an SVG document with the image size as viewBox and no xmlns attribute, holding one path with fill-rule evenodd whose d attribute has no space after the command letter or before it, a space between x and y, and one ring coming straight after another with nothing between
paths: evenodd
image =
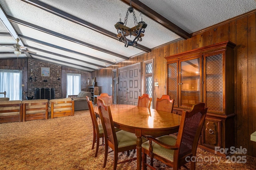
<instances>
[{"instance_id":1,"label":"tan-brown shaggy carpet covering the floor","mask_svg":"<svg viewBox=\"0 0 256 170\"><path fill-rule=\"evenodd\" d=\"M1 170L98 170L113 169L113 152L108 154L106 168L102 168L104 146L98 157L92 150L92 123L88 111L75 111L73 117L59 117L20 123L0 124ZM136 153L130 153L130 157ZM256 158L246 156L246 163L232 163L198 148L198 170L255 170ZM233 155L239 158L241 155ZM118 161L126 159L119 153ZM211 160L211 161L210 161ZM218 163L220 160L220 163ZM189 167L189 163L186 164ZM160 170L172 169L154 161ZM118 164L118 170L136 169L136 161ZM182 167L182 169L184 169Z\"/></svg>"}]
</instances>

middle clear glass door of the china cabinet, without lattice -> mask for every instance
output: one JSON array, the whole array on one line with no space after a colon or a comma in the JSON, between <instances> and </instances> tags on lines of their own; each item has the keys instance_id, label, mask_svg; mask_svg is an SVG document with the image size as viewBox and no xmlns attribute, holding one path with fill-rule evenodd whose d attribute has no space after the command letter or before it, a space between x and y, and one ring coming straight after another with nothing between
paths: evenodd
<instances>
[{"instance_id":1,"label":"middle clear glass door of the china cabinet, without lattice","mask_svg":"<svg viewBox=\"0 0 256 170\"><path fill-rule=\"evenodd\" d=\"M202 98L201 57L180 61L180 107L191 108Z\"/></svg>"}]
</instances>

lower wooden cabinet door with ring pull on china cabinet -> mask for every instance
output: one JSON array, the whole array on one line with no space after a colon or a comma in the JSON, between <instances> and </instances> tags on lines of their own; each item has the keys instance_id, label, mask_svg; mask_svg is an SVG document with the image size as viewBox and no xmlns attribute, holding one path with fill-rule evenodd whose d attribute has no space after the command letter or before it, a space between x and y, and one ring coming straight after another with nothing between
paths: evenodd
<instances>
[{"instance_id":1,"label":"lower wooden cabinet door with ring pull on china cabinet","mask_svg":"<svg viewBox=\"0 0 256 170\"><path fill-rule=\"evenodd\" d=\"M202 145L208 148L215 148L221 145L221 125L222 120L205 118L202 130Z\"/></svg>"}]
</instances>

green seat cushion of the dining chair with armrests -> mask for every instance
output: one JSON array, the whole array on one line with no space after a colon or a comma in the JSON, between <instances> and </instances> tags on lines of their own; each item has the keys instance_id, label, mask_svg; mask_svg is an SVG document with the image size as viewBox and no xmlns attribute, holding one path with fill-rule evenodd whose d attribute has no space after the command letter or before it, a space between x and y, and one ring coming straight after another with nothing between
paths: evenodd
<instances>
[{"instance_id":1,"label":"green seat cushion of the dining chair with armrests","mask_svg":"<svg viewBox=\"0 0 256 170\"><path fill-rule=\"evenodd\" d=\"M176 138L170 135L166 136L161 136L156 138L157 140L160 140L161 142L164 142L165 144L168 145L175 145L176 144ZM146 150L149 150L149 141L142 143L142 148L145 148ZM153 153L157 154L163 158L166 158L167 160L170 160L173 162L173 154L174 150L166 149L156 142L152 141L152 148L153 148Z\"/></svg>"}]
</instances>

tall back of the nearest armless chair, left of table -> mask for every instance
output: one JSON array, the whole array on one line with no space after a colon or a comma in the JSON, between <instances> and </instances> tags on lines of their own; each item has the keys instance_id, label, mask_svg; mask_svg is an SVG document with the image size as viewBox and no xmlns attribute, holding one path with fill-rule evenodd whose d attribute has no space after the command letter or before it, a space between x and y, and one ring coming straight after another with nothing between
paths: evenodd
<instances>
[{"instance_id":1,"label":"tall back of the nearest armless chair, left of table","mask_svg":"<svg viewBox=\"0 0 256 170\"><path fill-rule=\"evenodd\" d=\"M114 123L111 115L110 105L105 105L102 99L97 99L100 120L104 130L105 142L112 143L117 149L117 138Z\"/></svg>"}]
</instances>

